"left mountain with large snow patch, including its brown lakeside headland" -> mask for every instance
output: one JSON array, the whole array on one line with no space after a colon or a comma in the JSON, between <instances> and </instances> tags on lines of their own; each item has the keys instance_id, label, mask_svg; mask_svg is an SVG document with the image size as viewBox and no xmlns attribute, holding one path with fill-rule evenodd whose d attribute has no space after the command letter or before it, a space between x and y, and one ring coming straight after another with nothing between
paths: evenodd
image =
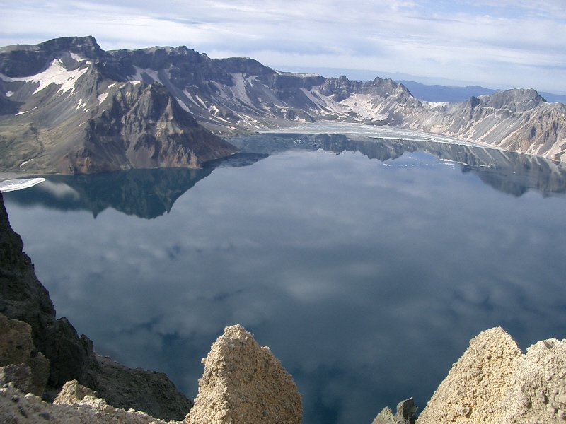
<instances>
[{"instance_id":1,"label":"left mountain with large snow patch, including its brown lakeside headland","mask_svg":"<svg viewBox=\"0 0 566 424\"><path fill-rule=\"evenodd\" d=\"M67 174L197 168L237 151L165 87L127 82L120 72L134 65L117 61L92 37L1 49L0 167Z\"/></svg>"}]
</instances>

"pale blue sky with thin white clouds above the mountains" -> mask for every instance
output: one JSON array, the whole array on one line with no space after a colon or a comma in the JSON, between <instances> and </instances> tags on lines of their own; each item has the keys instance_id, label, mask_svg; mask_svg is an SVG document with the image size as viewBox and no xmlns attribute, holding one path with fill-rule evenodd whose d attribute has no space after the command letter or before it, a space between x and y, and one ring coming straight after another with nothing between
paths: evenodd
<instances>
[{"instance_id":1,"label":"pale blue sky with thin white clouds above the mountains","mask_svg":"<svg viewBox=\"0 0 566 424\"><path fill-rule=\"evenodd\" d=\"M566 94L565 0L0 0L0 45L93 35L279 71Z\"/></svg>"}]
</instances>

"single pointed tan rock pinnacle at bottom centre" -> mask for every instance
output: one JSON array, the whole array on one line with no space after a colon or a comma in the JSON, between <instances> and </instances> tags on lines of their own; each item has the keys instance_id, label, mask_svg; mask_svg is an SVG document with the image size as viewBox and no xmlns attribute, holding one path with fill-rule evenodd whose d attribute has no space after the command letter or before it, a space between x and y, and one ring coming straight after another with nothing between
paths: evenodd
<instances>
[{"instance_id":1,"label":"single pointed tan rock pinnacle at bottom centre","mask_svg":"<svg viewBox=\"0 0 566 424\"><path fill-rule=\"evenodd\" d=\"M301 395L269 348L241 326L228 326L204 359L187 424L299 424Z\"/></svg>"}]
</instances>

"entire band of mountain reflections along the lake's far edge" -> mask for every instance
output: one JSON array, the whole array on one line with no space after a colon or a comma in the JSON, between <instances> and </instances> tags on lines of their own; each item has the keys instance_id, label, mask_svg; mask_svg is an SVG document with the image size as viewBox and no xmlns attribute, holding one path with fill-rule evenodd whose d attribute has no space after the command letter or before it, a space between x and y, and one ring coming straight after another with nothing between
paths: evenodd
<instances>
[{"instance_id":1,"label":"entire band of mountain reflections along the lake's far edge","mask_svg":"<svg viewBox=\"0 0 566 424\"><path fill-rule=\"evenodd\" d=\"M171 211L175 201L216 167L249 166L274 153L290 150L333 153L360 152L381 162L404 153L424 152L462 172L478 175L500 192L521 196L535 189L543 196L566 193L566 168L534 155L460 144L399 139L370 139L340 134L266 134L231 139L240 153L207 163L202 170L161 168L126 170L97 175L50 175L35 190L13 196L21 204L43 204L63 211L87 210L96 218L114 208L139 218L156 218Z\"/></svg>"}]
</instances>

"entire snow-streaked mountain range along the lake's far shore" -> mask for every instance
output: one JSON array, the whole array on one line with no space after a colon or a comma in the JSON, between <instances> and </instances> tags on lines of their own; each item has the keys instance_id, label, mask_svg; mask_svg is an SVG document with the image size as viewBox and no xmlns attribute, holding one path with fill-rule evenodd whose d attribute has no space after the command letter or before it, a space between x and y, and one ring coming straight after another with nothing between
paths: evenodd
<instances>
[{"instance_id":1,"label":"entire snow-streaked mountain range along the lake's far shore","mask_svg":"<svg viewBox=\"0 0 566 424\"><path fill-rule=\"evenodd\" d=\"M391 79L280 72L187 47L105 52L93 37L0 48L0 170L202 167L221 137L315 121L398 126L566 161L566 106L535 90L419 100Z\"/></svg>"}]
</instances>

